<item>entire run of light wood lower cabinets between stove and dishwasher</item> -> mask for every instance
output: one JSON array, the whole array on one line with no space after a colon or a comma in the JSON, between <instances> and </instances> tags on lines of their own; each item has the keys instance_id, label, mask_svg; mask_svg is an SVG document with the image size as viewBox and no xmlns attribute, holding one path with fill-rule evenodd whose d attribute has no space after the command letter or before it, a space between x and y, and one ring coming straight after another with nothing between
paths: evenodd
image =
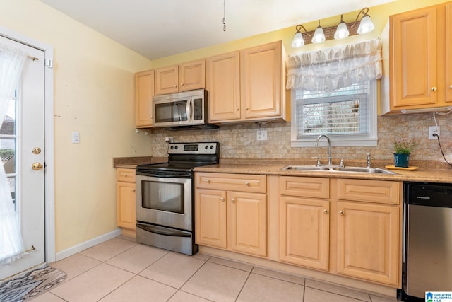
<instances>
[{"instance_id":1,"label":"entire run of light wood lower cabinets between stove and dishwasher","mask_svg":"<svg viewBox=\"0 0 452 302\"><path fill-rule=\"evenodd\" d=\"M279 176L267 190L266 175L195 179L199 245L400 288L402 182Z\"/></svg>"}]
</instances>

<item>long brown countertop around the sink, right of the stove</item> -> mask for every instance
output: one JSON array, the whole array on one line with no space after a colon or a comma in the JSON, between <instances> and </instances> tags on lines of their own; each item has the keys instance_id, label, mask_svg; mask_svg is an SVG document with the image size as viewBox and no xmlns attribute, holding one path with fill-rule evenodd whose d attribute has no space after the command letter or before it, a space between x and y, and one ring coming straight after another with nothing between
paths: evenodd
<instances>
[{"instance_id":1,"label":"long brown countertop around the sink, right of the stove","mask_svg":"<svg viewBox=\"0 0 452 302\"><path fill-rule=\"evenodd\" d=\"M392 170L396 175L382 173L346 173L338 171L297 171L284 170L287 164L234 164L220 163L218 165L204 165L196 167L195 172L211 173L237 173L237 174L264 174L264 175L285 175L285 176L306 176L306 177L326 177L326 178L359 178L369 180L396 180L412 182L446 182L452 183L451 169L429 169L418 168L417 170ZM347 165L346 165L347 166ZM384 166L372 166L372 168L384 168ZM390 170L390 169L386 169Z\"/></svg>"}]
</instances>

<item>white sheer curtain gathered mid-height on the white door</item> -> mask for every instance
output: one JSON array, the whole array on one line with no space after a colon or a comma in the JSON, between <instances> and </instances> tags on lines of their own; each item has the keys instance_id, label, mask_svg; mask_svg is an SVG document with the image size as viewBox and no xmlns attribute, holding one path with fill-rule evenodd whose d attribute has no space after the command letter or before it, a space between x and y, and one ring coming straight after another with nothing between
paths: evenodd
<instances>
[{"instance_id":1,"label":"white sheer curtain gathered mid-height on the white door","mask_svg":"<svg viewBox=\"0 0 452 302\"><path fill-rule=\"evenodd\" d=\"M0 43L0 123L3 123L26 58L23 50ZM0 165L0 265L7 265L20 259L25 249L5 169Z\"/></svg>"}]
</instances>

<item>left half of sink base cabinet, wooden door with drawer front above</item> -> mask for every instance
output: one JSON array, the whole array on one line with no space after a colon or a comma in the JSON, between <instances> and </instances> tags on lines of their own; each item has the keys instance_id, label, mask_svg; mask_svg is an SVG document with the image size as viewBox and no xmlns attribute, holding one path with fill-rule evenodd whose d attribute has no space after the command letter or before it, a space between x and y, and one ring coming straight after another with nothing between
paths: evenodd
<instances>
[{"instance_id":1,"label":"left half of sink base cabinet, wooden door with drawer front above","mask_svg":"<svg viewBox=\"0 0 452 302\"><path fill-rule=\"evenodd\" d=\"M328 271L328 178L280 177L280 192L280 260Z\"/></svg>"}]
</instances>

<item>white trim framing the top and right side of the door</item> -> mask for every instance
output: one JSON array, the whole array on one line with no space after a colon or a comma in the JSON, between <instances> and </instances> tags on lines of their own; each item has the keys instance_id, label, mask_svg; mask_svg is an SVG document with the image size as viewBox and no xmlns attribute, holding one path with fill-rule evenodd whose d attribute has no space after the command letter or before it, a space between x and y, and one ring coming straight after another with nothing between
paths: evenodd
<instances>
[{"instance_id":1,"label":"white trim framing the top and right side of the door","mask_svg":"<svg viewBox=\"0 0 452 302\"><path fill-rule=\"evenodd\" d=\"M52 46L0 26L0 35L35 47L44 52L44 59L54 59ZM55 248L55 190L54 190L54 70L45 68L44 74L44 148L45 148L45 262L56 260Z\"/></svg>"}]
</instances>

